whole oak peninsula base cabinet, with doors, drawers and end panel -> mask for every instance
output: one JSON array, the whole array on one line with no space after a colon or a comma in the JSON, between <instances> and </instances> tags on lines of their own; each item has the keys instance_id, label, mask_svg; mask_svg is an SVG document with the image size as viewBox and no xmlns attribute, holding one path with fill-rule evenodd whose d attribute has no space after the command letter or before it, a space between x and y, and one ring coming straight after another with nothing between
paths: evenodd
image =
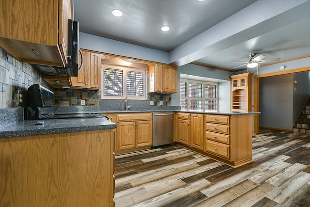
<instances>
[{"instance_id":1,"label":"whole oak peninsula base cabinet, with doors, drawers and end panel","mask_svg":"<svg viewBox=\"0 0 310 207\"><path fill-rule=\"evenodd\" d=\"M175 141L181 146L232 167L252 161L251 114L178 112L177 118Z\"/></svg>"}]
</instances>

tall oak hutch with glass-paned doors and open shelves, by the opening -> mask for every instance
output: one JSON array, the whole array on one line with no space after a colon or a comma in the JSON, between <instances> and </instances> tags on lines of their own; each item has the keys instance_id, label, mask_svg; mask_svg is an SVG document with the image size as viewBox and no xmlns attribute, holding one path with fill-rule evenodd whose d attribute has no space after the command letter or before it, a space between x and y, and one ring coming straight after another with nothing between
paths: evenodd
<instances>
[{"instance_id":1,"label":"tall oak hutch with glass-paned doors and open shelves, by the opening","mask_svg":"<svg viewBox=\"0 0 310 207\"><path fill-rule=\"evenodd\" d=\"M252 73L231 76L232 111L252 111Z\"/></svg>"}]
</instances>

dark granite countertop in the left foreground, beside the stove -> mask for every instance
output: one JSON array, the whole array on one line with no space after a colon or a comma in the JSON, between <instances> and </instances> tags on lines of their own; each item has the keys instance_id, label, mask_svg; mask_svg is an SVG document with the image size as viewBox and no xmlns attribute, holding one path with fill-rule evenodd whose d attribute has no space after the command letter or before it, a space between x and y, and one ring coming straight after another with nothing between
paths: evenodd
<instances>
[{"instance_id":1,"label":"dark granite countertop in the left foreground, beside the stove","mask_svg":"<svg viewBox=\"0 0 310 207\"><path fill-rule=\"evenodd\" d=\"M37 124L43 121L44 124ZM0 138L116 128L104 117L20 121L0 127Z\"/></svg>"}]
</instances>

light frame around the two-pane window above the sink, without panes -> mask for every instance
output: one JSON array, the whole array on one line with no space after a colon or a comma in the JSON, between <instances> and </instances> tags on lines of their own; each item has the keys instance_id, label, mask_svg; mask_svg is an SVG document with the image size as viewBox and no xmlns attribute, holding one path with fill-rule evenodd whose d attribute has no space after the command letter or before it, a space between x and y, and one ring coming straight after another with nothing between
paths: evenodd
<instances>
[{"instance_id":1,"label":"light frame around the two-pane window above the sink, without panes","mask_svg":"<svg viewBox=\"0 0 310 207\"><path fill-rule=\"evenodd\" d=\"M104 69L116 69L123 71L123 96L107 96L104 95ZM141 72L143 73L143 96L130 96L127 95L128 100L147 100L147 68L130 67L130 65L114 65L114 64L102 64L101 67L101 99L125 99L127 94L127 71Z\"/></svg>"}]
</instances>

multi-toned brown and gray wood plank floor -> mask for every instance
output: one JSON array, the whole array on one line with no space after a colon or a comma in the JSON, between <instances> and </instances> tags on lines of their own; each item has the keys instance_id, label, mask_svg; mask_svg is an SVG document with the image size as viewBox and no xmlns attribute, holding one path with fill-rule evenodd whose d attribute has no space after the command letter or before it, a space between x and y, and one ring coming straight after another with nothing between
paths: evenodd
<instances>
[{"instance_id":1,"label":"multi-toned brown and gray wood plank floor","mask_svg":"<svg viewBox=\"0 0 310 207\"><path fill-rule=\"evenodd\" d=\"M260 129L232 168L178 145L116 156L116 207L310 207L310 135Z\"/></svg>"}]
</instances>

